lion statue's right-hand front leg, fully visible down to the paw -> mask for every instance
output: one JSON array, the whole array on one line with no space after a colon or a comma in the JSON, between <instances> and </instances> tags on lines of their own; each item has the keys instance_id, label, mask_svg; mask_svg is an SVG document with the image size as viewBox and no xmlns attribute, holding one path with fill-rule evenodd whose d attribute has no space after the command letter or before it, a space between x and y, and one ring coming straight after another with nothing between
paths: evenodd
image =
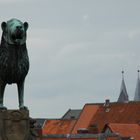
<instances>
[{"instance_id":1,"label":"lion statue's right-hand front leg, fully visible down to the paw","mask_svg":"<svg viewBox=\"0 0 140 140\"><path fill-rule=\"evenodd\" d=\"M18 87L19 108L27 109L27 107L24 106L24 81L17 83L17 87Z\"/></svg>"}]
</instances>

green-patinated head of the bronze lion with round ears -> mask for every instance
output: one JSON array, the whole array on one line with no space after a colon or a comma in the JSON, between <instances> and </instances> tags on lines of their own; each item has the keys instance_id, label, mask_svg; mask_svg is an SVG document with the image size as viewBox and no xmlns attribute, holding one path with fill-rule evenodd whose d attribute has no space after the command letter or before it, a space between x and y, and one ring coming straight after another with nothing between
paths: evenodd
<instances>
[{"instance_id":1,"label":"green-patinated head of the bronze lion with round ears","mask_svg":"<svg viewBox=\"0 0 140 140\"><path fill-rule=\"evenodd\" d=\"M26 42L27 22L21 22L18 19L11 19L1 24L3 30L3 39L11 45L23 45Z\"/></svg>"}]
</instances>

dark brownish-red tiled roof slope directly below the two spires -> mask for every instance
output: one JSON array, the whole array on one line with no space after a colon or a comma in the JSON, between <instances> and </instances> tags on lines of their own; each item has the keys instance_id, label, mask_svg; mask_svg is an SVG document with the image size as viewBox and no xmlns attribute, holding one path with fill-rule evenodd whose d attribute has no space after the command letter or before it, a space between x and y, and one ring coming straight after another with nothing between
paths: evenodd
<instances>
[{"instance_id":1,"label":"dark brownish-red tiled roof slope directly below the two spires","mask_svg":"<svg viewBox=\"0 0 140 140\"><path fill-rule=\"evenodd\" d=\"M86 106L89 106L89 104ZM90 110L94 110L97 105L91 104L90 107ZM84 110L84 114L87 113L88 111ZM84 119L84 122L89 123L89 120ZM98 110L92 116L90 125L97 124L101 132L107 123L131 124L138 122L140 122L140 102L110 103L109 107L105 107L103 104L98 107Z\"/></svg>"}]
</instances>

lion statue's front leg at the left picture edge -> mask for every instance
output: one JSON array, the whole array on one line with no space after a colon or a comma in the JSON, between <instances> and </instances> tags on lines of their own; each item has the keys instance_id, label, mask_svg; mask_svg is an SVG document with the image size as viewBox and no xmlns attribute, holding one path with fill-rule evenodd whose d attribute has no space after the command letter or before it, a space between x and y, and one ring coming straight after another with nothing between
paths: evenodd
<instances>
[{"instance_id":1,"label":"lion statue's front leg at the left picture edge","mask_svg":"<svg viewBox=\"0 0 140 140\"><path fill-rule=\"evenodd\" d=\"M5 90L6 84L1 82L0 83L0 109L6 109L6 107L3 106L3 97L4 97L4 90Z\"/></svg>"}]
</instances>

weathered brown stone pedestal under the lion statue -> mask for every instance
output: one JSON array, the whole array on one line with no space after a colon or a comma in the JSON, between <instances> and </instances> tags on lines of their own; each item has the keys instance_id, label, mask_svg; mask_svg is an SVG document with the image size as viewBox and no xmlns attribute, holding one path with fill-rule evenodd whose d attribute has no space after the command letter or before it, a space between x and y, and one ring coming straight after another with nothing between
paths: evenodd
<instances>
[{"instance_id":1,"label":"weathered brown stone pedestal under the lion statue","mask_svg":"<svg viewBox=\"0 0 140 140\"><path fill-rule=\"evenodd\" d=\"M0 110L0 140L35 140L28 110Z\"/></svg>"}]
</instances>

